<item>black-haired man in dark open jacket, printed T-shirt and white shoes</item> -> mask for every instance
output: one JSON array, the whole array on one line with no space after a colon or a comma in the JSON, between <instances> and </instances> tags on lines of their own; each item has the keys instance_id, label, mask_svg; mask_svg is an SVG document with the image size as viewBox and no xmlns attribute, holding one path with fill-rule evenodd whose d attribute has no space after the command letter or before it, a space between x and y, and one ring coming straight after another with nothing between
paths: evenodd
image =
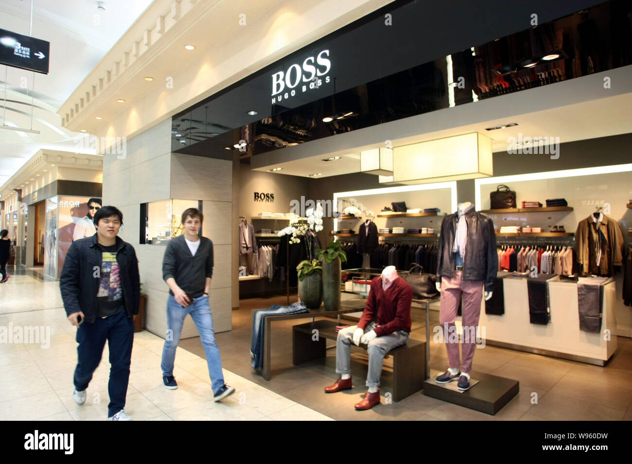
<instances>
[{"instance_id":1,"label":"black-haired man in dark open jacket, printed T-shirt and white shoes","mask_svg":"<svg viewBox=\"0 0 632 464\"><path fill-rule=\"evenodd\" d=\"M97 233L71 244L59 277L68 320L78 328L73 398L78 405L85 403L88 383L107 340L109 420L131 420L124 407L140 302L136 253L117 237L122 222L123 213L114 206L100 208L94 215Z\"/></svg>"}]
</instances>

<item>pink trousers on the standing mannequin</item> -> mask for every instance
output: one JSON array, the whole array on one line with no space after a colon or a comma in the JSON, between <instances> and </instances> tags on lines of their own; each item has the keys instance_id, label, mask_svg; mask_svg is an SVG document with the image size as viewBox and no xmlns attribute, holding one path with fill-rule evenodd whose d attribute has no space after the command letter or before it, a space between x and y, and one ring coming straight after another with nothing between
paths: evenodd
<instances>
[{"instance_id":1,"label":"pink trousers on the standing mannequin","mask_svg":"<svg viewBox=\"0 0 632 464\"><path fill-rule=\"evenodd\" d=\"M461 372L468 374L472 367L472 358L476 349L476 329L480 317L480 306L483 297L483 280L462 280L461 271L453 271L452 278L441 279L441 306L439 309L439 323L447 333L455 333L456 312L461 297L463 297L463 362L459 360L459 343L451 342L451 337L444 340L446 343L447 359L449 367L461 366Z\"/></svg>"}]
</instances>

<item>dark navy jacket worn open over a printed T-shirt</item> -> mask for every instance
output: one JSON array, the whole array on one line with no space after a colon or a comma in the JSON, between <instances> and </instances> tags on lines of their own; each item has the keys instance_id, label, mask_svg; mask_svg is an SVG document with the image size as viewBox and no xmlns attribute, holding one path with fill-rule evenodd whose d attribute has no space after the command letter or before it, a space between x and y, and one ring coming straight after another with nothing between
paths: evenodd
<instances>
[{"instance_id":1,"label":"dark navy jacket worn open over a printed T-shirt","mask_svg":"<svg viewBox=\"0 0 632 464\"><path fill-rule=\"evenodd\" d=\"M128 316L138 314L140 304L140 277L138 259L134 247L116 237L116 262L119 265L123 299ZM99 302L101 250L97 244L97 234L73 242L64 259L64 267L59 277L59 289L64 301L66 314L83 312L85 321L92 323L97 316Z\"/></svg>"}]
</instances>

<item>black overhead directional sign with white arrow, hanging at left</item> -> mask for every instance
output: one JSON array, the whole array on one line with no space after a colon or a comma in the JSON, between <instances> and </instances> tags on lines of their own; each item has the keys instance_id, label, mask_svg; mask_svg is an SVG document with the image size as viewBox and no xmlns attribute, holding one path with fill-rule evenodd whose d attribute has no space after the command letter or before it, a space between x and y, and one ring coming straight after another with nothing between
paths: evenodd
<instances>
[{"instance_id":1,"label":"black overhead directional sign with white arrow, hanging at left","mask_svg":"<svg viewBox=\"0 0 632 464\"><path fill-rule=\"evenodd\" d=\"M48 74L51 43L0 29L0 63Z\"/></svg>"}]
</instances>

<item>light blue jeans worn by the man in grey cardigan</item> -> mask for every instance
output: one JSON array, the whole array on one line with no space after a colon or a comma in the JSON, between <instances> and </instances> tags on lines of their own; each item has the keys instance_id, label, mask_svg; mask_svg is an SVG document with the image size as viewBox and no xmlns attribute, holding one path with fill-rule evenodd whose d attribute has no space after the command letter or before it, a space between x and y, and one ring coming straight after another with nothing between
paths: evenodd
<instances>
[{"instance_id":1,"label":"light blue jeans worn by the man in grey cardigan","mask_svg":"<svg viewBox=\"0 0 632 464\"><path fill-rule=\"evenodd\" d=\"M204 352L206 353L206 362L209 365L211 386L213 391L217 392L224 386L224 373L222 372L222 359L219 355L219 347L217 347L215 340L209 297L204 295L194 298L193 302L187 307L180 306L174 296L169 295L167 299L167 329L171 330L171 332L167 331L167 338L164 340L164 348L162 348L162 375L173 376L176 348L178 348L178 343L180 342L182 325L187 314L191 314L191 318L198 332L200 332L200 340L202 340Z\"/></svg>"}]
</instances>

